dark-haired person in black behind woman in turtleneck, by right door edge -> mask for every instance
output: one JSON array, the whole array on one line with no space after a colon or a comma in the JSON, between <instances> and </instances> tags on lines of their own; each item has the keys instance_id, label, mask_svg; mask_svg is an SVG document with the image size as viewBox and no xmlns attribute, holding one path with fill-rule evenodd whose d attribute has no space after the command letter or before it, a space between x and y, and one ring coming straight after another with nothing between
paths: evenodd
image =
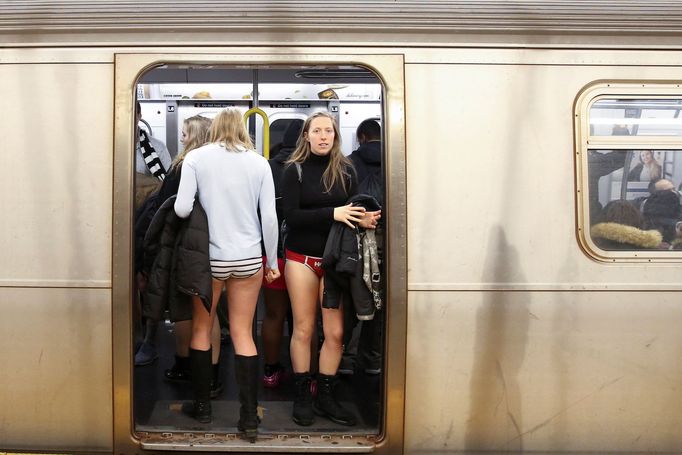
<instances>
[{"instance_id":1,"label":"dark-haired person in black behind woman in turtleneck, by right door edge","mask_svg":"<svg viewBox=\"0 0 682 455\"><path fill-rule=\"evenodd\" d=\"M384 203L383 172L381 167L381 126L376 120L368 119L360 123L355 132L360 146L348 158L355 167L358 176L358 193L373 196L379 204ZM379 221L376 229L379 267L383 271L383 220ZM341 374L352 374L355 368L362 369L365 374L381 373L382 364L382 329L384 312L377 309L374 318L362 321L360 339L351 342L353 328L358 319L352 312L346 313L344 330L344 354L341 361ZM357 331L355 331L357 332ZM353 336L353 338L355 338ZM355 340L354 340L355 341ZM357 349L351 345L355 345ZM357 352L355 352L357 351ZM356 360L358 365L356 365Z\"/></svg>"}]
</instances>

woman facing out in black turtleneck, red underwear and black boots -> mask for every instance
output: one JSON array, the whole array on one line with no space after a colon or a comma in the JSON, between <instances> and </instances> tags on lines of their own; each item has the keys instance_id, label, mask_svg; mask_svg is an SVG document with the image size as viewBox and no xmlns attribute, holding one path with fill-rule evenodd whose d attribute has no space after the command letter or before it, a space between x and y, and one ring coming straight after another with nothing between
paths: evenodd
<instances>
[{"instance_id":1,"label":"woman facing out in black turtleneck, red underwear and black boots","mask_svg":"<svg viewBox=\"0 0 682 455\"><path fill-rule=\"evenodd\" d=\"M322 308L324 343L320 350L317 397L313 408L310 390L310 342L317 308L322 301L322 256L334 221L374 228L379 212L346 204L355 194L357 180L350 161L341 152L341 136L334 117L318 112L305 121L296 150L282 179L284 218L287 223L285 278L294 316L291 363L296 381L293 420L311 425L313 412L343 425L355 417L335 399L333 389L343 350L343 306Z\"/></svg>"}]
</instances>

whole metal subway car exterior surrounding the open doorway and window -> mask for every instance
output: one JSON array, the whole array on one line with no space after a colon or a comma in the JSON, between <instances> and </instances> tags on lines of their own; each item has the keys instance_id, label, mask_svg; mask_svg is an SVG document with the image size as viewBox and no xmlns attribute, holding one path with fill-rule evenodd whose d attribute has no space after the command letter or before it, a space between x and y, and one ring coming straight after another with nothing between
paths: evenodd
<instances>
[{"instance_id":1,"label":"whole metal subway car exterior surrounding the open doorway and window","mask_svg":"<svg viewBox=\"0 0 682 455\"><path fill-rule=\"evenodd\" d=\"M219 38L190 33L191 20L160 30L176 24L163 15L120 35L0 19L0 449L142 453L130 409L135 78L223 62L359 64L384 83L391 306L377 452L678 452L682 256L587 251L576 116L591 85L680 80L665 12L680 7L652 2L628 34L634 7L597 3L624 8L623 28L542 22L551 2L526 28L511 15L471 33L433 13L429 31L413 11L409 33L377 24L365 37L341 19L348 31L311 37L305 22L269 32L247 15L262 27L221 22Z\"/></svg>"}]
</instances>

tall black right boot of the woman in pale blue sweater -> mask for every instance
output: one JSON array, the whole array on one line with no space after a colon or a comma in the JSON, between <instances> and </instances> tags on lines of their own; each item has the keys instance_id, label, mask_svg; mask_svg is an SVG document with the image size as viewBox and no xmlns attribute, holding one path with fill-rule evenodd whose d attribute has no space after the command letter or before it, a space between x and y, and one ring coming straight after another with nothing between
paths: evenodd
<instances>
[{"instance_id":1,"label":"tall black right boot of the woman in pale blue sweater","mask_svg":"<svg viewBox=\"0 0 682 455\"><path fill-rule=\"evenodd\" d=\"M239 422L237 429L251 442L258 436L258 356L234 356L235 376L239 386Z\"/></svg>"}]
</instances>

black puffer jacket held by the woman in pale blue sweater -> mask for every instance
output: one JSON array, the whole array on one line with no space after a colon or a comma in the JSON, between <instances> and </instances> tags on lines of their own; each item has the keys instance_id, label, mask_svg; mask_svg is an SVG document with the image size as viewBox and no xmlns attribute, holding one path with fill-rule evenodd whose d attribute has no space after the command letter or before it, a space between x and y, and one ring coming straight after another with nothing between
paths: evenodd
<instances>
[{"instance_id":1,"label":"black puffer jacket held by the woman in pale blue sweater","mask_svg":"<svg viewBox=\"0 0 682 455\"><path fill-rule=\"evenodd\" d=\"M187 219L175 214L175 196L154 215L144 238L144 270L149 276L142 314L161 320L166 308L172 321L192 318L191 296L211 308L208 219L199 201Z\"/></svg>"}]
</instances>

